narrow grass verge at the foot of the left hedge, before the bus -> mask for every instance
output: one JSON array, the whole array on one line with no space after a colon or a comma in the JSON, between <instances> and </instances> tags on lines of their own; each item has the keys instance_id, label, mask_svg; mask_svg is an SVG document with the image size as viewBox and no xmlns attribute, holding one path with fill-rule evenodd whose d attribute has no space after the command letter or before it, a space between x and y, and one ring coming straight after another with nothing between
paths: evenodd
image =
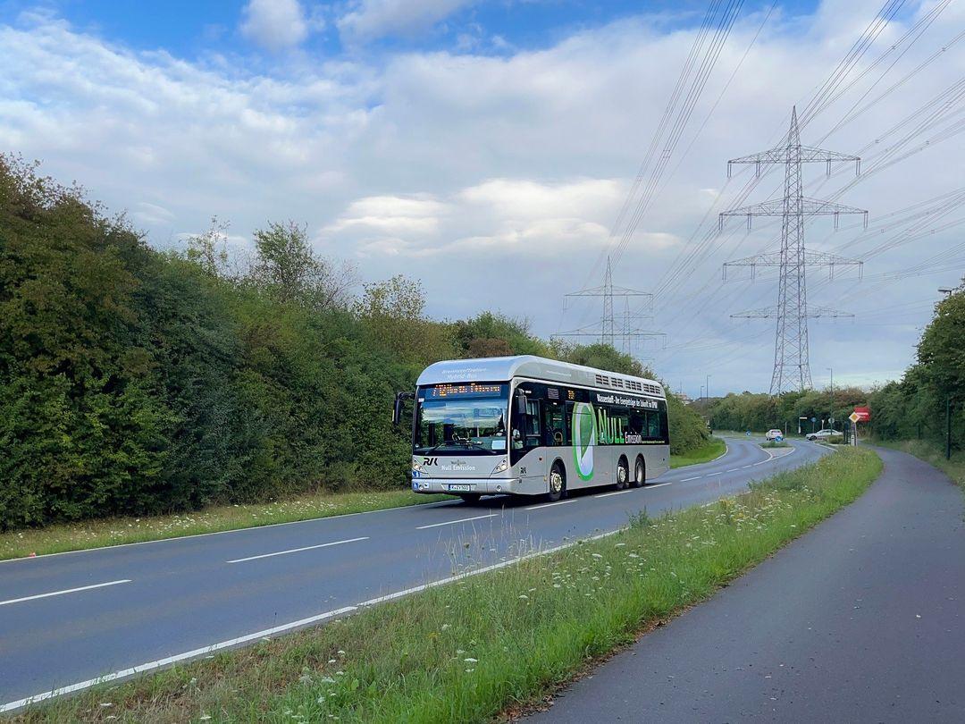
<instances>
[{"instance_id":1,"label":"narrow grass verge at the foot of the left hedge, before the bus","mask_svg":"<svg viewBox=\"0 0 965 724\"><path fill-rule=\"evenodd\" d=\"M62 553L123 543L256 528L317 517L380 511L386 508L451 500L449 495L420 495L408 488L370 492L316 493L290 500L251 505L212 506L175 515L112 517L81 523L0 533L0 560L31 553Z\"/></svg>"}]
</instances>

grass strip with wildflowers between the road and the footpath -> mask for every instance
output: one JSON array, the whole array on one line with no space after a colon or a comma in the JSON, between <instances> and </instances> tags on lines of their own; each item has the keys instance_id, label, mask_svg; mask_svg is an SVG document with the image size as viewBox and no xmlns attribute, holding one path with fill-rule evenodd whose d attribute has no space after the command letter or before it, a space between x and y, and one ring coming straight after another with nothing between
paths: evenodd
<instances>
[{"instance_id":1,"label":"grass strip with wildflowers between the road and the footpath","mask_svg":"<svg viewBox=\"0 0 965 724\"><path fill-rule=\"evenodd\" d=\"M324 627L23 712L21 721L479 721L538 702L711 596L881 470L841 450L708 507L385 603ZM474 551L461 551L471 565Z\"/></svg>"}]
</instances>

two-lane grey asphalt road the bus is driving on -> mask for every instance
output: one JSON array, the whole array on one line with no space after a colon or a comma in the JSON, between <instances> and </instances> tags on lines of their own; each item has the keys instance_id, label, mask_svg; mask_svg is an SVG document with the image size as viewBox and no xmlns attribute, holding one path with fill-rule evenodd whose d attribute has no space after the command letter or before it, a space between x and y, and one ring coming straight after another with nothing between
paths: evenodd
<instances>
[{"instance_id":1,"label":"two-lane grey asphalt road the bus is driving on","mask_svg":"<svg viewBox=\"0 0 965 724\"><path fill-rule=\"evenodd\" d=\"M826 453L799 442L772 454L735 439L723 458L647 487L555 504L454 501L0 562L0 710L317 624L454 572L615 530L645 507L734 494Z\"/></svg>"}]
</instances>

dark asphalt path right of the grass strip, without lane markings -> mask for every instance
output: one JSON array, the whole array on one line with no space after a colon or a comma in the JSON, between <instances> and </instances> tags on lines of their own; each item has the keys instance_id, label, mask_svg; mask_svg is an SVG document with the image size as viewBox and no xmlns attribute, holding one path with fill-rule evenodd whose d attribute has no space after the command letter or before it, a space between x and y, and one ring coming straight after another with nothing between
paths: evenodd
<instances>
[{"instance_id":1,"label":"dark asphalt path right of the grass strip, without lane markings","mask_svg":"<svg viewBox=\"0 0 965 724\"><path fill-rule=\"evenodd\" d=\"M573 684L538 722L965 721L961 491L885 474L713 599Z\"/></svg>"}]
</instances>

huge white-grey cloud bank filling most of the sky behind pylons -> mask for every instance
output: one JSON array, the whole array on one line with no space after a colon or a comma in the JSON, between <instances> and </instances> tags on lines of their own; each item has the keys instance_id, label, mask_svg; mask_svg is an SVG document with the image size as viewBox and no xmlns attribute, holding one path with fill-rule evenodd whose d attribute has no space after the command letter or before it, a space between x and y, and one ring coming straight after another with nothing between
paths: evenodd
<instances>
[{"instance_id":1,"label":"huge white-grey cloud bank filling most of the sky behind pylons","mask_svg":"<svg viewBox=\"0 0 965 724\"><path fill-rule=\"evenodd\" d=\"M759 16L738 23L676 149L675 175L614 267L615 283L646 290L682 260L653 322L672 335L658 372L675 387L689 380L696 394L704 368L713 368L712 384L720 380L722 387L759 389L770 381L771 323L730 316L773 304L773 282L761 274L755 284L746 277L723 284L720 265L772 245L779 229L756 224L748 235L734 220L709 243L695 230L718 196L729 203L746 181L727 181L727 158L775 140L790 105L808 97L854 42L860 29L841 31L831 22L839 14L848 27L864 17L854 19L852 4L835 0L822 5L819 22L774 20L694 140L690 131L703 123ZM869 97L949 42L963 22L965 9L952 4ZM432 314L455 318L501 304L549 334L561 324L598 319L598 307L588 306L561 321L561 295L599 284L610 225L693 42L692 30L663 27L630 19L498 58L418 51L380 56L371 65L295 58L291 63L302 65L267 76L136 53L34 14L15 26L0 24L0 149L40 158L45 173L81 181L111 209L130 209L159 246L178 232L207 228L215 214L232 223L238 245L266 220L292 218L308 223L324 253L358 259L366 279L400 272L421 278ZM903 31L889 28L868 61ZM890 61L805 128L804 141L816 142ZM965 43L951 46L821 145L858 151L951 86L963 63ZM869 209L873 227L893 209L960 186L965 149L958 140L868 177L838 200ZM833 195L847 181L835 178L818 189L822 173L806 171L814 196ZM744 203L762 201L779 185L777 175L767 178ZM707 218L704 230L713 227L713 210ZM830 222L809 224L809 244L849 254L877 243L849 247L860 223L853 231L844 226L836 233ZM865 323L862 315L889 294L896 295L891 304L934 295L936 287L957 282L960 267L881 289L868 279L941 252L956 231L873 259L865 287L840 270L833 284L809 271L813 303L858 315L813 327L815 378L831 355L836 376L869 379L911 359L914 327L927 320L927 305L918 317ZM706 254L680 256L704 243ZM882 326L893 321L902 323ZM694 340L721 347L686 347Z\"/></svg>"}]
</instances>

